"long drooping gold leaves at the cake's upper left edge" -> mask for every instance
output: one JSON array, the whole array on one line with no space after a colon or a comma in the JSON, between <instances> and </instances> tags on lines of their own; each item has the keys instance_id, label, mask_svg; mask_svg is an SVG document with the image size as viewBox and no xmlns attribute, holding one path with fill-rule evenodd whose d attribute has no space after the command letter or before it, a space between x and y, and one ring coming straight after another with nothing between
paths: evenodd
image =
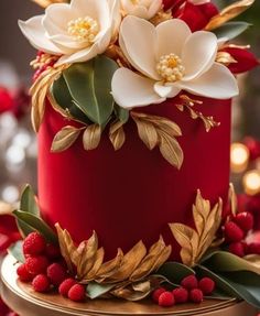
<instances>
[{"instance_id":1,"label":"long drooping gold leaves at the cake's upper left edge","mask_svg":"<svg viewBox=\"0 0 260 316\"><path fill-rule=\"evenodd\" d=\"M45 98L48 94L48 89L67 67L68 65L62 65L56 68L47 68L39 76L30 89L30 95L32 96L31 119L35 132L39 131L44 117Z\"/></svg>"}]
</instances>

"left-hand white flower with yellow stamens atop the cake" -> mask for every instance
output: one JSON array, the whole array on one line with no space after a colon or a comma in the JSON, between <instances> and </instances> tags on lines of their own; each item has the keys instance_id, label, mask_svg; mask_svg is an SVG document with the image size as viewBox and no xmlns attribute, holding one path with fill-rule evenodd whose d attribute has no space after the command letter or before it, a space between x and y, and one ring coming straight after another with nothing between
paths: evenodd
<instances>
[{"instance_id":1,"label":"left-hand white flower with yellow stamens atop the cake","mask_svg":"<svg viewBox=\"0 0 260 316\"><path fill-rule=\"evenodd\" d=\"M45 14L19 21L19 25L35 48L61 55L61 65L102 54L120 19L120 0L72 0L71 4L51 4Z\"/></svg>"}]
</instances>

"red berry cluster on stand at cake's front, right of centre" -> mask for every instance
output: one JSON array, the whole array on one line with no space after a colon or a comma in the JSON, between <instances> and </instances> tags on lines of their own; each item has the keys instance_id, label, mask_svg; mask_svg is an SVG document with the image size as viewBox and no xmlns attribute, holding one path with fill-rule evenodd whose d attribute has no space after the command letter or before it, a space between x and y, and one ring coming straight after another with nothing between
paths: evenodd
<instances>
[{"instance_id":1,"label":"red berry cluster on stand at cake's front, right of centre","mask_svg":"<svg viewBox=\"0 0 260 316\"><path fill-rule=\"evenodd\" d=\"M187 302L202 303L204 295L210 295L214 290L215 282L212 279L203 277L198 281L195 275L188 275L182 280L181 286L173 291L167 291L164 287L156 288L152 298L163 307Z\"/></svg>"}]
</instances>

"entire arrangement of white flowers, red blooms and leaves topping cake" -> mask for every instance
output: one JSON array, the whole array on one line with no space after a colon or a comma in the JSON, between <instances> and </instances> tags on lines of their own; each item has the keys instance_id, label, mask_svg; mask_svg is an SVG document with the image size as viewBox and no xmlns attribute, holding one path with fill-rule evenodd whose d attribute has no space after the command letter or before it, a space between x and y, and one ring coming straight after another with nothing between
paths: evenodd
<instances>
[{"instance_id":1,"label":"entire arrangement of white flowers, red blooms and leaves topping cake","mask_svg":"<svg viewBox=\"0 0 260 316\"><path fill-rule=\"evenodd\" d=\"M249 26L230 20L253 0L221 11L210 1L195 0L35 2L47 7L45 13L19 22L39 50L32 62L33 127L40 129L46 100L78 123L57 132L53 152L68 149L80 134L85 150L94 150L107 130L119 150L126 141L123 126L131 118L145 145L159 146L180 168L184 155L176 138L182 127L136 108L174 99L181 111L187 109L209 131L219 123L194 105L203 102L201 97L237 96L235 74L258 65L248 47L230 43Z\"/></svg>"}]
</instances>

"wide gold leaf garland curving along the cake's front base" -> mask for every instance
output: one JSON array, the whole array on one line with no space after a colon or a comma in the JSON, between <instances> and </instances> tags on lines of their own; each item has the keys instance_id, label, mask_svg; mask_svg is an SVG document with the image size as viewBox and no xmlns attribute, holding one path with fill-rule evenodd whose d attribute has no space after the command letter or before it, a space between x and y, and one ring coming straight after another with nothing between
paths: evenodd
<instances>
[{"instance_id":1,"label":"wide gold leaf garland curving along the cake's front base","mask_svg":"<svg viewBox=\"0 0 260 316\"><path fill-rule=\"evenodd\" d=\"M95 281L126 286L140 282L156 271L172 252L171 246L165 246L160 237L149 251L143 242L139 241L128 253L123 254L122 250L118 249L115 259L104 262L105 251L104 248L98 248L96 232L76 247L67 230L63 230L58 224L56 230L62 255L72 272L74 266L76 268L77 279L83 284Z\"/></svg>"}]
</instances>

